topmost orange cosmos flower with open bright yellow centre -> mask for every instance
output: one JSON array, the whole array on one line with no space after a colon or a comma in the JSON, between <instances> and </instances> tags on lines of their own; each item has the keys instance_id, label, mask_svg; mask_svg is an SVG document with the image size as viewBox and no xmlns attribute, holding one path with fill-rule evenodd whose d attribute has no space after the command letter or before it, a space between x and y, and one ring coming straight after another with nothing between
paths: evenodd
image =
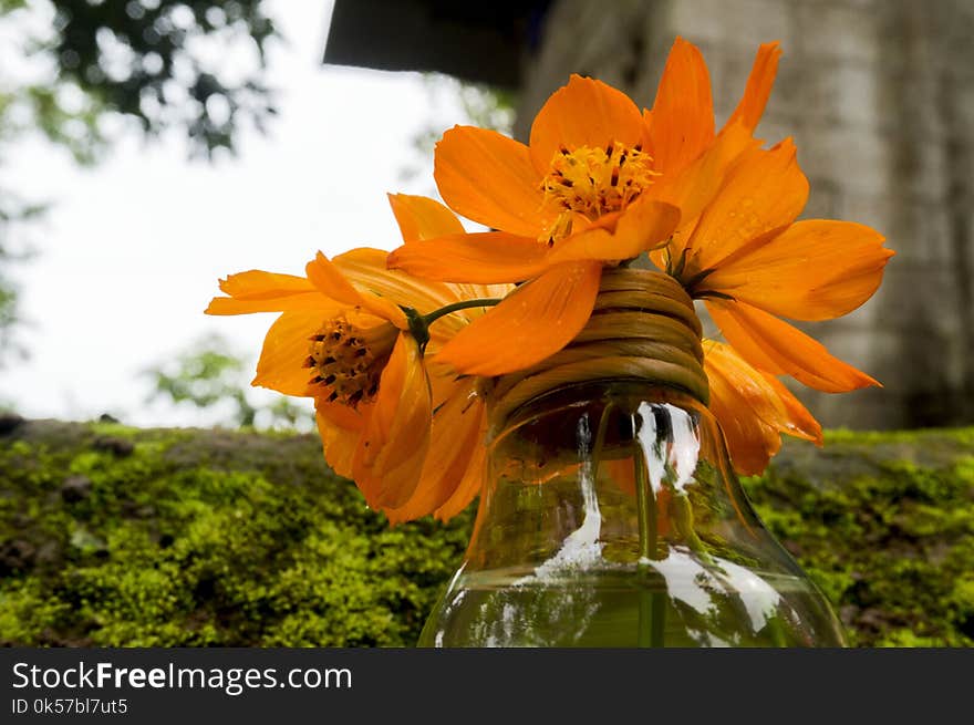
<instances>
[{"instance_id":1,"label":"topmost orange cosmos flower with open bright yellow centre","mask_svg":"<svg viewBox=\"0 0 974 725\"><path fill-rule=\"evenodd\" d=\"M733 159L756 144L750 135L778 54L774 43L760 48L719 135L706 65L682 39L652 111L572 75L538 113L527 146L470 126L446 132L435 155L443 198L497 231L405 246L390 266L455 282L529 281L458 334L442 359L466 373L498 375L564 346L591 314L602 267L666 239L681 209L696 216Z\"/></svg>"}]
</instances>

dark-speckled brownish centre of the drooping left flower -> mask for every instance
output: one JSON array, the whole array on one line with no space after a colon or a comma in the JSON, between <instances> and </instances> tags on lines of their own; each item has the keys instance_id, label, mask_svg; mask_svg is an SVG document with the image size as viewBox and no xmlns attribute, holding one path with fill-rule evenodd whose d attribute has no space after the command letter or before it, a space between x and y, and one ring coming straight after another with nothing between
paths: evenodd
<instances>
[{"instance_id":1,"label":"dark-speckled brownish centre of the drooping left flower","mask_svg":"<svg viewBox=\"0 0 974 725\"><path fill-rule=\"evenodd\" d=\"M371 401L397 334L388 322L356 328L344 319L328 320L311 336L311 354L304 361L314 371L309 384L321 389L315 395L350 407Z\"/></svg>"}]
</instances>

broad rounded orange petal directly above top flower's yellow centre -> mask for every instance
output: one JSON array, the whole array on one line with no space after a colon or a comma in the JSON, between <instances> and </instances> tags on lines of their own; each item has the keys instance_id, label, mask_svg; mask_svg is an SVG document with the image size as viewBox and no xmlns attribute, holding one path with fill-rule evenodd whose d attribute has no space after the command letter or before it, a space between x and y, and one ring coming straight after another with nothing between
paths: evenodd
<instances>
[{"instance_id":1,"label":"broad rounded orange petal directly above top flower's yellow centre","mask_svg":"<svg viewBox=\"0 0 974 725\"><path fill-rule=\"evenodd\" d=\"M642 113L628 95L601 81L572 75L531 124L531 160L540 176L548 174L561 148L604 148L613 141L634 146L642 134Z\"/></svg>"}]
</instances>

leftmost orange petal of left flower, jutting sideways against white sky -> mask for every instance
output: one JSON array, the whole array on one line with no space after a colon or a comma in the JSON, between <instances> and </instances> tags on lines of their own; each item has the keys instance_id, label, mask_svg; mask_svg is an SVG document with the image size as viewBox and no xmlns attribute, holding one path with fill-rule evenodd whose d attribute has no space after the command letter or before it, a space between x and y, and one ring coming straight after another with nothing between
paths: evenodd
<instances>
[{"instance_id":1,"label":"leftmost orange petal of left flower, jutting sideways against white sky","mask_svg":"<svg viewBox=\"0 0 974 725\"><path fill-rule=\"evenodd\" d=\"M283 312L334 307L303 277L278 275L252 269L220 280L220 290L229 297L215 297L207 314Z\"/></svg>"}]
</instances>

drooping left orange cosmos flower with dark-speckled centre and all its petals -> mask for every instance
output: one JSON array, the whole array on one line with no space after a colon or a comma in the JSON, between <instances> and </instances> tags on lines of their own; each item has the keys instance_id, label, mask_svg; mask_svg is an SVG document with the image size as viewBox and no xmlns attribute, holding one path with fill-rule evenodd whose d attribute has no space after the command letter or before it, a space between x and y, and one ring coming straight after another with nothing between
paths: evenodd
<instances>
[{"instance_id":1,"label":"drooping left orange cosmos flower with dark-speckled centre and all its petals","mask_svg":"<svg viewBox=\"0 0 974 725\"><path fill-rule=\"evenodd\" d=\"M407 242L459 227L432 199L391 197ZM462 227L459 227L462 228ZM449 518L478 493L485 414L480 383L427 364L483 311L458 310L427 332L417 315L508 288L453 286L386 269L386 252L321 252L305 277L249 271L220 282L209 314L281 312L265 340L253 385L314 398L325 458L391 522ZM404 308L408 308L407 313ZM435 413L434 413L435 411Z\"/></svg>"}]
</instances>

